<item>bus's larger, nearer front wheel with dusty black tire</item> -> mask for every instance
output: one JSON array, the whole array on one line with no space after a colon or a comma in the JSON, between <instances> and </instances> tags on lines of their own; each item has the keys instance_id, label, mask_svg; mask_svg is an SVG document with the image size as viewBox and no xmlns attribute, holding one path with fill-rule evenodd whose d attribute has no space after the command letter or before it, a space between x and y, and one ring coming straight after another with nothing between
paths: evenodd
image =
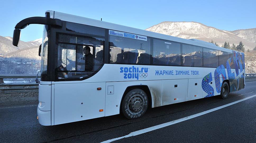
<instances>
[{"instance_id":1,"label":"bus's larger, nearer front wheel with dusty black tire","mask_svg":"<svg viewBox=\"0 0 256 143\"><path fill-rule=\"evenodd\" d=\"M130 120L138 119L148 109L148 96L141 89L130 90L122 100L122 113Z\"/></svg>"}]
</instances>

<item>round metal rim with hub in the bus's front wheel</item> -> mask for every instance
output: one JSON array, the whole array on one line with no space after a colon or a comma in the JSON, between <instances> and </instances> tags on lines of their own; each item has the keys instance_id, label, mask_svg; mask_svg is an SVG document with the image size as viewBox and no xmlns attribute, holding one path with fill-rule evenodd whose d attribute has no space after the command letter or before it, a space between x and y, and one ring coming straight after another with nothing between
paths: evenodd
<instances>
[{"instance_id":1,"label":"round metal rim with hub in the bus's front wheel","mask_svg":"<svg viewBox=\"0 0 256 143\"><path fill-rule=\"evenodd\" d=\"M134 95L130 98L128 108L132 113L138 113L143 107L143 98L140 95Z\"/></svg>"}]
</instances>

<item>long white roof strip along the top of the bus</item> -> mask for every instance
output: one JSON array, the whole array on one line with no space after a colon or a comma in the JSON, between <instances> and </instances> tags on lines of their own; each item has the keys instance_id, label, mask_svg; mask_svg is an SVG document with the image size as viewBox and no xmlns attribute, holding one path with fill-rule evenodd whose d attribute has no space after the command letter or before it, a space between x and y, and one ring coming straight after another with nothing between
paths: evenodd
<instances>
[{"instance_id":1,"label":"long white roof strip along the top of the bus","mask_svg":"<svg viewBox=\"0 0 256 143\"><path fill-rule=\"evenodd\" d=\"M225 52L232 52L232 50L230 50L230 49L217 47L217 46L215 46L215 44L210 44L209 42L202 42L202 40L183 39L183 38L179 38L179 37L174 37L174 36L170 36L170 35L160 34L160 33L137 29L137 28L132 28L132 27L124 26L124 25L99 21L99 20L95 20L95 19L91 19L91 18L75 16L72 14L67 14L67 13L62 13L62 12L57 12L57 11L48 10L45 13L47 13L47 12L50 13L50 18L57 18L57 19L61 19L62 21L80 23L80 24L101 27L101 28L106 28L106 29L111 29L111 30L116 30L116 31L121 31L121 32L127 32L127 33L144 35L144 36L153 37L153 38L170 40L170 41L174 41L174 42L191 44L191 45L201 46L201 47L205 47L205 48L212 48L212 49L221 50L221 51L225 51Z\"/></svg>"}]
</instances>

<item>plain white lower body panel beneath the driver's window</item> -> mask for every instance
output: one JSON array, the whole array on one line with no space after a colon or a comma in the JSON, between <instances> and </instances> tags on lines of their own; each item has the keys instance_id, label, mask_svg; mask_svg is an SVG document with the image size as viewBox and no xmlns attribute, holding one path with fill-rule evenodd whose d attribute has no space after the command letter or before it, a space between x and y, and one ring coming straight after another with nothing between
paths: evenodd
<instances>
[{"instance_id":1,"label":"plain white lower body panel beneath the driver's window","mask_svg":"<svg viewBox=\"0 0 256 143\"><path fill-rule=\"evenodd\" d=\"M105 116L105 82L54 86L54 125Z\"/></svg>"}]
</instances>

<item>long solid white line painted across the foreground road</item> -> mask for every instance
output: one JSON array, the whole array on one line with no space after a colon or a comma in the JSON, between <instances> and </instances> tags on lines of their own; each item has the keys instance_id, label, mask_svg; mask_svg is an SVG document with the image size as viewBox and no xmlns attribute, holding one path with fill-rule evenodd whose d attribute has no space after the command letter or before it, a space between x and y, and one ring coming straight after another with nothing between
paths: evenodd
<instances>
[{"instance_id":1,"label":"long solid white line painted across the foreground road","mask_svg":"<svg viewBox=\"0 0 256 143\"><path fill-rule=\"evenodd\" d=\"M225 107L227 107L227 106L230 106L230 105L239 103L239 102L241 102L241 101L244 101L244 100L247 100L247 99L250 99L250 98L253 98L253 97L255 97L255 96L256 96L256 94L255 94L255 95L252 95L252 96L249 96L249 97L246 97L246 98L244 98L244 99L237 100L237 101L235 101L235 102L226 104L226 105L222 105L222 106L219 106L219 107L216 107L216 108L207 110L207 111L203 111L203 112L201 112L201 113L197 113L197 114L194 114L194 115L191 115L191 116L187 116L187 117L184 117L184 118L181 118L181 119L177 119L177 120L174 120L174 121L166 122L166 123L163 123L163 124L160 124L160 125L156 125L156 126L153 126L153 127L148 127L148 128L146 128L146 129L138 130L138 131L135 131L135 132L131 132L131 133L128 134L128 135L125 135L125 136L122 136L122 137L117 137L117 138L115 138L115 139L106 140L106 141L103 141L103 142L101 142L101 143L108 143L108 142L120 140L120 139L123 139L123 138L126 138L126 137L131 137L131 136L136 136L136 135L144 134L144 133L146 133L146 132L150 132L150 131L153 131L153 130L157 130L157 129L160 129L160 128L163 128L163 127L166 127L166 126L170 126L170 125L173 125L173 124L182 122L182 121L186 121L186 120L189 120L189 119L192 119L192 118L195 118L195 117L198 117L198 116L201 116L201 115L204 115L204 114L207 114L207 113L210 113L210 112L213 112L213 111L222 109L222 108L225 108Z\"/></svg>"}]
</instances>

